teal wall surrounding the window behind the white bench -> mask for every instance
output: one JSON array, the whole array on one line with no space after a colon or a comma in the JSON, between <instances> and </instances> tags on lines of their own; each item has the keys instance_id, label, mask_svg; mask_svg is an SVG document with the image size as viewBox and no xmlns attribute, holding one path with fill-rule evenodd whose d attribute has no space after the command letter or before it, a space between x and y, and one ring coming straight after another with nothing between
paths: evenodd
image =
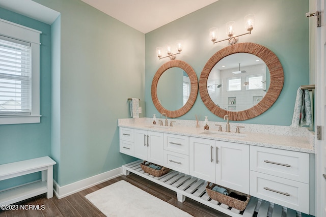
<instances>
[{"instance_id":1,"label":"teal wall surrounding the window behind the white bench","mask_svg":"<svg viewBox=\"0 0 326 217\"><path fill-rule=\"evenodd\" d=\"M40 35L40 123L0 125L0 164L50 155L51 152L51 28L50 25L0 8L0 18L42 32ZM0 190L33 181L40 174L0 182Z\"/></svg>"}]
</instances>

